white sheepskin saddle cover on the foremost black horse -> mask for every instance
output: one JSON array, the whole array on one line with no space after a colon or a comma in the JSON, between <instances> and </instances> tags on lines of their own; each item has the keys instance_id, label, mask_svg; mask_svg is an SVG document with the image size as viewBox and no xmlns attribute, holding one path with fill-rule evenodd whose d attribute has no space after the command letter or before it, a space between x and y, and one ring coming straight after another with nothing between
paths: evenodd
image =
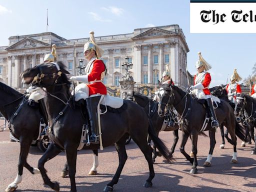
<instances>
[{"instance_id":1,"label":"white sheepskin saddle cover on the foremost black horse","mask_svg":"<svg viewBox=\"0 0 256 192\"><path fill-rule=\"evenodd\" d=\"M96 95L90 95L96 96ZM89 97L89 88L85 83L80 83L74 88L74 98L75 101L80 99L86 99ZM120 108L123 105L123 99L115 96L110 96L108 94L104 95L100 104L110 106L112 108Z\"/></svg>"}]
</instances>

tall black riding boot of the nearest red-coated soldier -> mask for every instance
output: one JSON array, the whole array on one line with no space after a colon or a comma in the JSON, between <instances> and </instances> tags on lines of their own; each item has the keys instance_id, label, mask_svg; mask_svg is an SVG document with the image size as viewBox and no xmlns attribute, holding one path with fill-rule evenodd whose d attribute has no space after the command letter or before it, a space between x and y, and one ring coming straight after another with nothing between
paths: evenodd
<instances>
[{"instance_id":1,"label":"tall black riding boot of the nearest red-coated soldier","mask_svg":"<svg viewBox=\"0 0 256 192\"><path fill-rule=\"evenodd\" d=\"M88 115L89 115L90 130L91 130L89 142L93 142L93 144L99 143L97 105L100 97L101 96L92 96L85 99Z\"/></svg>"}]
</instances>

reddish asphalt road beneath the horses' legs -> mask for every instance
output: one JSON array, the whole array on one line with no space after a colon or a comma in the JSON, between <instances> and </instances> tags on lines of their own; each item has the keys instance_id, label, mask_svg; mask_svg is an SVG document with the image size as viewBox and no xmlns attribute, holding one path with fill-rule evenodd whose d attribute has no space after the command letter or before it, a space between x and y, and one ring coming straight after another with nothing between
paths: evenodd
<instances>
[{"instance_id":1,"label":"reddish asphalt road beneath the horses' legs","mask_svg":"<svg viewBox=\"0 0 256 192\"><path fill-rule=\"evenodd\" d=\"M181 132L179 133L181 136ZM171 132L160 132L170 148L172 144ZM174 152L175 161L166 163L162 157L156 159L154 164L155 177L153 186L144 188L142 185L148 176L147 162L137 145L131 140L126 145L128 159L122 170L119 182L114 185L114 191L256 191L255 155L250 154L253 144L240 147L237 144L237 164L229 161L232 158L232 146L226 143L224 149L219 149L220 131L216 133L216 146L213 153L211 167L204 167L203 163L209 150L209 138L198 138L198 173L190 174L191 164L179 152L179 143ZM185 147L190 152L191 142L188 140ZM4 191L17 174L17 162L19 155L19 143L9 141L9 132L0 132L0 191ZM27 161L36 167L42 152L31 146ZM111 180L118 165L118 156L114 146L105 148L99 152L98 174L90 176L88 171L92 166L92 151L78 151L76 166L77 191L102 191ZM51 180L60 183L60 191L69 191L69 178L60 177L60 172L65 162L64 153L46 162L48 176ZM24 168L23 180L18 184L16 191L52 191L43 185L39 174L32 175Z\"/></svg>"}]
</instances>

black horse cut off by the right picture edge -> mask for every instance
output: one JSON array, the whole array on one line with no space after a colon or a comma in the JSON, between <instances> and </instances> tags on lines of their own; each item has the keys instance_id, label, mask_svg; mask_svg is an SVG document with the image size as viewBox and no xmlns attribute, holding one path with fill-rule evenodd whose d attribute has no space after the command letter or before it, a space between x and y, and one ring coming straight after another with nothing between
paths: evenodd
<instances>
[{"instance_id":1,"label":"black horse cut off by the right picture edge","mask_svg":"<svg viewBox=\"0 0 256 192\"><path fill-rule=\"evenodd\" d=\"M242 115L250 125L250 129L256 127L256 99L247 94L239 93L236 94L235 100L235 116L239 117ZM254 135L254 140L256 141L256 133ZM251 154L256 154L256 142L254 144L253 150L251 151Z\"/></svg>"}]
</instances>

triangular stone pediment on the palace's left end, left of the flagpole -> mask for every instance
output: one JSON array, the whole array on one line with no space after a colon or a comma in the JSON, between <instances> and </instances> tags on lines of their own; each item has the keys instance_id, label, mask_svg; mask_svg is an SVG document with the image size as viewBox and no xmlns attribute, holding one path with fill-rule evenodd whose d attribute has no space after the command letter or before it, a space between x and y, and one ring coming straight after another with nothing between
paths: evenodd
<instances>
[{"instance_id":1,"label":"triangular stone pediment on the palace's left end, left of the flagpole","mask_svg":"<svg viewBox=\"0 0 256 192\"><path fill-rule=\"evenodd\" d=\"M13 50L13 49L23 49L23 48L34 48L34 47L45 47L50 46L50 44L35 40L30 37L25 37L20 41L8 46L5 50Z\"/></svg>"}]
</instances>

